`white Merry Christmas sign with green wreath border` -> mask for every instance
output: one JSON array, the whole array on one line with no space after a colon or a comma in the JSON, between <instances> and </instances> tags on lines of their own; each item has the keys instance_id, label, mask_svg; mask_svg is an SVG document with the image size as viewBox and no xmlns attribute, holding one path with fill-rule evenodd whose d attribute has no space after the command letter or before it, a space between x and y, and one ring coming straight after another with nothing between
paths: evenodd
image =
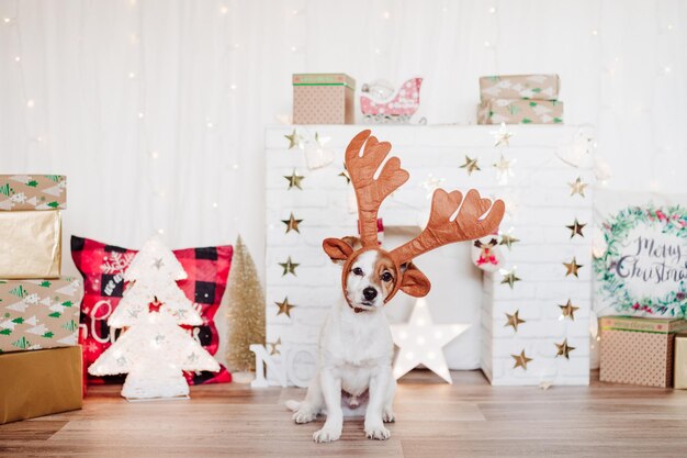
<instances>
[{"instance_id":1,"label":"white Merry Christmas sign with green wreath border","mask_svg":"<svg viewBox=\"0 0 687 458\"><path fill-rule=\"evenodd\" d=\"M597 310L667 317L687 309L687 209L628 206L601 222Z\"/></svg>"}]
</instances>

